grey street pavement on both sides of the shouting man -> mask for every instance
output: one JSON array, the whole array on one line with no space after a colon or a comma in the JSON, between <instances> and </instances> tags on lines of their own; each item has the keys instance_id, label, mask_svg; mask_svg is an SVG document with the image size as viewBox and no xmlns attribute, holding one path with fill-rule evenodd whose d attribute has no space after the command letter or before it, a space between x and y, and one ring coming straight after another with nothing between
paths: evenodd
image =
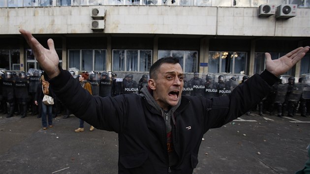
<instances>
[{"instance_id":1,"label":"grey street pavement on both sides of the shouting man","mask_svg":"<svg viewBox=\"0 0 310 174\"><path fill-rule=\"evenodd\" d=\"M118 136L95 129L75 133L79 119L0 115L0 174L117 174ZM310 117L252 112L217 129L201 143L194 174L294 174L303 169Z\"/></svg>"}]
</instances>

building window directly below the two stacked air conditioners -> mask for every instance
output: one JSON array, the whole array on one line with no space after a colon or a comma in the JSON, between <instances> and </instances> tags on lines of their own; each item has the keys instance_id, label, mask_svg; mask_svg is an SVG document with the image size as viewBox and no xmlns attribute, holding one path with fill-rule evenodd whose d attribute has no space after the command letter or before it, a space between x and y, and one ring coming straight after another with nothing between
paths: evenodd
<instances>
[{"instance_id":1,"label":"building window directly below the two stacked air conditioners","mask_svg":"<svg viewBox=\"0 0 310 174\"><path fill-rule=\"evenodd\" d=\"M69 68L80 71L106 71L106 50L69 50Z\"/></svg>"}]
</instances>

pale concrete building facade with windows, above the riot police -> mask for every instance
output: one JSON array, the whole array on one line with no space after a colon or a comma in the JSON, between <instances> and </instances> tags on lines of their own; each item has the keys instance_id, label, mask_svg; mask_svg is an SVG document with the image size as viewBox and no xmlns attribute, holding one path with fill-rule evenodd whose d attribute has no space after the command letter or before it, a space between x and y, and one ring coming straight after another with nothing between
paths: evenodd
<instances>
[{"instance_id":1,"label":"pale concrete building facade with windows, above the riot police","mask_svg":"<svg viewBox=\"0 0 310 174\"><path fill-rule=\"evenodd\" d=\"M46 47L52 38L63 69L134 73L136 79L167 56L179 58L190 75L253 75L264 70L265 52L275 59L310 45L308 0L65 0L65 5L48 0L42 6L43 0L35 1L0 3L0 68L40 68L21 28ZM293 8L294 2L293 17L259 16L261 4L276 9L283 4L285 10L284 4ZM287 75L305 73L310 54Z\"/></svg>"}]
</instances>

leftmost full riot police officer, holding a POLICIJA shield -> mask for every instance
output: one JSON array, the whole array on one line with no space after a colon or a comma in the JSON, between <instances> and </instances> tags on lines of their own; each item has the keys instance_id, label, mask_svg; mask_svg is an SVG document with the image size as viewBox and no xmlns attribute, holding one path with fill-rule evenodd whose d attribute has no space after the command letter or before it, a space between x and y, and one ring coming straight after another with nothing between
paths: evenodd
<instances>
[{"instance_id":1,"label":"leftmost full riot police officer, holding a POLICIJA shield","mask_svg":"<svg viewBox=\"0 0 310 174\"><path fill-rule=\"evenodd\" d=\"M14 83L15 79L13 78L12 72L6 71L5 78L2 81L2 87L3 87L3 97L5 98L4 104L8 102L10 106L9 113L6 116L7 118L12 117L15 111Z\"/></svg>"}]
</instances>

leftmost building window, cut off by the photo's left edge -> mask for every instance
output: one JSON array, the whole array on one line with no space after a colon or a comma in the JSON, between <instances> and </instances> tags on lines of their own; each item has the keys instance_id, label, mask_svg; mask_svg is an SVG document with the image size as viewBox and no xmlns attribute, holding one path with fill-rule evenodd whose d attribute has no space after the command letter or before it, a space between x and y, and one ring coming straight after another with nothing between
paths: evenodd
<instances>
[{"instance_id":1,"label":"leftmost building window, cut off by the photo's left edge","mask_svg":"<svg viewBox=\"0 0 310 174\"><path fill-rule=\"evenodd\" d=\"M20 65L19 50L0 50L0 68L18 70Z\"/></svg>"}]
</instances>

